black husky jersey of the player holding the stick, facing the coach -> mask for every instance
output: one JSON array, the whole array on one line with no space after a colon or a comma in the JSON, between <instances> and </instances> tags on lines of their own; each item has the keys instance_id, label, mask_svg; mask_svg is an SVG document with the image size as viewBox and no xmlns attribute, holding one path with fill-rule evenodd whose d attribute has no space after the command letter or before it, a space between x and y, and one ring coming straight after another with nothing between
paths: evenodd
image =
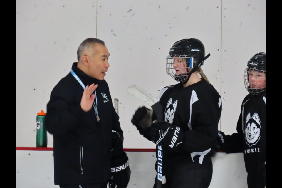
<instances>
[{"instance_id":1,"label":"black husky jersey of the player holding the stick, facing the coach","mask_svg":"<svg viewBox=\"0 0 282 188\"><path fill-rule=\"evenodd\" d=\"M182 83L167 86L161 90L159 101L163 120L180 127L184 133L183 143L177 150L163 146L165 175L176 162L193 162L191 153L203 152L204 156L209 152L216 140L222 106L219 93L203 79L187 87Z\"/></svg>"}]
</instances>

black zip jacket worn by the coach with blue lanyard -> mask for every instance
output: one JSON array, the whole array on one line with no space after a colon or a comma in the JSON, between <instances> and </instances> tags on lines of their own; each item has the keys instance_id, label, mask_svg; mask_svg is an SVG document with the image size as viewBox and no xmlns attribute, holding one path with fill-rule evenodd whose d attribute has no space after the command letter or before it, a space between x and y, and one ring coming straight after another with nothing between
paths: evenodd
<instances>
[{"instance_id":1,"label":"black zip jacket worn by the coach with blue lanyard","mask_svg":"<svg viewBox=\"0 0 282 188\"><path fill-rule=\"evenodd\" d=\"M84 85L98 84L96 96L100 122L95 110L80 106L83 87L68 73L51 92L47 104L46 127L54 138L55 185L107 182L111 177L112 130L123 141L119 116L115 112L108 84L91 78L73 63L73 71ZM122 152L122 150L121 150Z\"/></svg>"}]
</instances>

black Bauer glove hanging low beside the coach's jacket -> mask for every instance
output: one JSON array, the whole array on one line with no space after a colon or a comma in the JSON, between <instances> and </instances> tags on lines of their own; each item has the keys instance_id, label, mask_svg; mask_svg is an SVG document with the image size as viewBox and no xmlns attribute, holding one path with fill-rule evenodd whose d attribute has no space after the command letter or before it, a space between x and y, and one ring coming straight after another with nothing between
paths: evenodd
<instances>
[{"instance_id":1,"label":"black Bauer glove hanging low beside the coach's jacket","mask_svg":"<svg viewBox=\"0 0 282 188\"><path fill-rule=\"evenodd\" d=\"M126 153L123 152L123 156L121 159L115 159L114 163L117 161L117 165L112 165L111 174L112 177L109 181L110 188L126 188L130 179L131 170L129 168L129 160L126 156Z\"/></svg>"}]
</instances>

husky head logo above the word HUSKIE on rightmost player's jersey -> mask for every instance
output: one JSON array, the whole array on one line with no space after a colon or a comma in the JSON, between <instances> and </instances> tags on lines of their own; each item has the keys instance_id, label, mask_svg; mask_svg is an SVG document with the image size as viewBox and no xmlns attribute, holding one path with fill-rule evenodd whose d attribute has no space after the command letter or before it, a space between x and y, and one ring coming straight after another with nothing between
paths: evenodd
<instances>
[{"instance_id":1,"label":"husky head logo above the word HUSKIE on rightmost player's jersey","mask_svg":"<svg viewBox=\"0 0 282 188\"><path fill-rule=\"evenodd\" d=\"M251 113L249 113L246 117L245 139L250 147L258 143L261 137L260 132L261 120L259 119L259 115L254 113L253 117L251 117Z\"/></svg>"}]
</instances>

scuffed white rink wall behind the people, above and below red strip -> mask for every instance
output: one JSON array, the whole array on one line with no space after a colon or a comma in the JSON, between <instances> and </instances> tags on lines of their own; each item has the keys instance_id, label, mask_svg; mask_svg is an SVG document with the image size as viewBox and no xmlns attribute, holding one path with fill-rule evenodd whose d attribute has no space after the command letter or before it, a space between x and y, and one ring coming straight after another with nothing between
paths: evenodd
<instances>
[{"instance_id":1,"label":"scuffed white rink wall behind the people, above and below red strip","mask_svg":"<svg viewBox=\"0 0 282 188\"><path fill-rule=\"evenodd\" d=\"M79 44L89 37L105 41L110 52L105 79L112 98L119 100L125 148L155 148L130 122L137 107L146 104L127 88L137 85L157 98L161 88L175 84L166 74L165 57L183 38L200 39L211 53L202 68L222 98L219 130L231 134L248 94L247 61L266 52L266 1L16 0L16 147L36 146L36 114L46 112L51 90L69 73ZM48 147L53 147L51 134ZM54 187L51 154L16 151L16 187ZM154 154L128 155L134 172L130 186L150 187ZM213 162L211 187L246 187L242 153L219 153Z\"/></svg>"}]
</instances>

